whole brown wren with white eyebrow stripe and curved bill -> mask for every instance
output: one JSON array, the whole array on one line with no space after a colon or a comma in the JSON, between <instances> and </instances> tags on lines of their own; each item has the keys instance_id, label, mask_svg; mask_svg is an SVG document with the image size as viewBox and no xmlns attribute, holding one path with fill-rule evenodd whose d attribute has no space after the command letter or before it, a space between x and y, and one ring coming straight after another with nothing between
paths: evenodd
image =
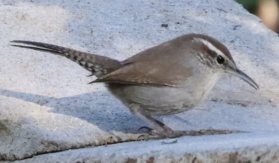
<instances>
[{"instance_id":1,"label":"whole brown wren with white eyebrow stripe and curved bill","mask_svg":"<svg viewBox=\"0 0 279 163\"><path fill-rule=\"evenodd\" d=\"M174 132L152 116L194 108L205 100L224 72L259 89L236 67L228 49L207 35L182 35L124 61L51 44L11 42L33 45L14 46L58 54L77 62L98 77L91 83L106 83L113 95L154 129L153 134L162 137L172 137Z\"/></svg>"}]
</instances>

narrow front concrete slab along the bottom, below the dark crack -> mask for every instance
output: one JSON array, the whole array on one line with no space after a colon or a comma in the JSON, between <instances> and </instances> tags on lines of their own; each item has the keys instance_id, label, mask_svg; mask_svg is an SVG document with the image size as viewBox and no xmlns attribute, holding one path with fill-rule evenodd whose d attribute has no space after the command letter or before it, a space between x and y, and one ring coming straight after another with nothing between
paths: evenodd
<instances>
[{"instance_id":1,"label":"narrow front concrete slab along the bottom, below the dark crack","mask_svg":"<svg viewBox=\"0 0 279 163\"><path fill-rule=\"evenodd\" d=\"M278 162L278 134L245 133L125 142L44 154L15 162ZM165 141L174 143L165 144Z\"/></svg>"}]
</instances>

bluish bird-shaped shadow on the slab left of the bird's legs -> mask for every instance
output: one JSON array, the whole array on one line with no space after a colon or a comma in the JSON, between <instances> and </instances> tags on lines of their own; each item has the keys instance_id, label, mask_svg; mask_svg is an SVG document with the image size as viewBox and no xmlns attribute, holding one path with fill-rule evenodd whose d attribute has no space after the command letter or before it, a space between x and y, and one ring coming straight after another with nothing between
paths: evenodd
<instances>
[{"instance_id":1,"label":"bluish bird-shaped shadow on the slab left of the bird's legs","mask_svg":"<svg viewBox=\"0 0 279 163\"><path fill-rule=\"evenodd\" d=\"M108 91L94 91L68 97L48 97L0 89L0 95L47 106L48 112L73 116L98 126L103 131L139 133L144 123L136 118ZM132 125L131 125L132 124Z\"/></svg>"}]
</instances>

